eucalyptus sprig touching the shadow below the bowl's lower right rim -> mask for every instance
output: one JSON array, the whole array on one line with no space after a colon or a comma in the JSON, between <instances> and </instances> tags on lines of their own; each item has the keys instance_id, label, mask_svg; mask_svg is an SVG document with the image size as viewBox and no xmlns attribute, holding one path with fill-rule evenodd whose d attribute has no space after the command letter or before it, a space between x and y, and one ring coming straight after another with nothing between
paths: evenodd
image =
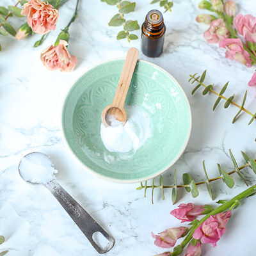
<instances>
[{"instance_id":1,"label":"eucalyptus sprig touching the shadow below the bowl's lower right rim","mask_svg":"<svg viewBox=\"0 0 256 256\"><path fill-rule=\"evenodd\" d=\"M234 170L232 172L226 172L225 170L223 170L223 168L221 168L220 164L217 164L218 171L220 172L220 176L215 177L213 179L209 179L209 176L208 176L206 168L205 168L205 161L203 161L203 170L204 170L206 179L201 182L195 182L195 180L192 179L192 177L191 177L191 175L189 175L189 173L183 173L183 175L182 175L183 184L177 184L177 174L176 174L176 170L175 170L175 172L174 172L175 184L174 185L164 186L163 176L160 175L159 176L159 184L155 184L155 179L153 179L152 185L148 185L148 180L146 180L145 184L143 184L143 182L141 182L140 187L138 187L137 189L144 189L145 197L146 197L147 189L148 188L152 189L152 204L154 204L154 201L153 201L154 189L156 189L156 188L161 189L163 199L164 199L164 189L172 189L172 202L173 202L173 204L175 204L177 202L177 195L178 195L179 188L184 188L184 189L186 189L187 192L191 192L191 195L195 198L196 196L199 195L197 186L202 185L202 184L206 184L207 191L213 200L214 196L212 193L211 182L215 181L215 180L223 180L223 182L228 186L228 188L233 188L235 182L234 182L234 179L232 179L232 177L230 177L230 175L232 175L234 173L236 173L239 176L239 178L244 182L244 184L246 184L246 186L248 186L246 180L244 179L244 177L241 173L241 170L243 170L246 167L250 167L253 170L253 172L256 174L256 159L252 159L252 158L248 157L247 154L245 154L243 151L241 151L243 158L246 161L246 164L239 167L237 165L237 161L236 161L234 155L232 154L231 150L229 150L229 153L230 153L232 162L234 164Z\"/></svg>"}]
</instances>

